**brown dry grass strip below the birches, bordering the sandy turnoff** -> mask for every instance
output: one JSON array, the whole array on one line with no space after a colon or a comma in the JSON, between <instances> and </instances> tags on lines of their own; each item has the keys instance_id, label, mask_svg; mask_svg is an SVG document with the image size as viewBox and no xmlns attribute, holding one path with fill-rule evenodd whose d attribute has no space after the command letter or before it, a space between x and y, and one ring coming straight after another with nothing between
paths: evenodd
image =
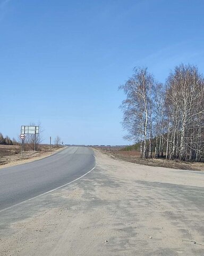
<instances>
[{"instance_id":1,"label":"brown dry grass strip below the birches, bordering the sandy turnoff","mask_svg":"<svg viewBox=\"0 0 204 256\"><path fill-rule=\"evenodd\" d=\"M103 152L113 158L121 159L123 161L131 162L135 164L167 167L167 168L182 169L182 170L204 171L203 162L202 163L180 162L178 159L171 161L171 160L166 160L164 158L142 159L140 158L140 152L138 151L103 150Z\"/></svg>"}]
</instances>

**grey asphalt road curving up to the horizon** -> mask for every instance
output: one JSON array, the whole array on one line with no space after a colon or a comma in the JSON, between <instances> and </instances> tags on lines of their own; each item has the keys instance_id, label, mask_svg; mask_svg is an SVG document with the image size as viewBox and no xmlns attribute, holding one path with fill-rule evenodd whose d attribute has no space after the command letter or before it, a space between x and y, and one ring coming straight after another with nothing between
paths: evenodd
<instances>
[{"instance_id":1,"label":"grey asphalt road curving up to the horizon","mask_svg":"<svg viewBox=\"0 0 204 256\"><path fill-rule=\"evenodd\" d=\"M94 151L68 147L38 161L0 170L0 211L63 186L95 166Z\"/></svg>"}]
</instances>

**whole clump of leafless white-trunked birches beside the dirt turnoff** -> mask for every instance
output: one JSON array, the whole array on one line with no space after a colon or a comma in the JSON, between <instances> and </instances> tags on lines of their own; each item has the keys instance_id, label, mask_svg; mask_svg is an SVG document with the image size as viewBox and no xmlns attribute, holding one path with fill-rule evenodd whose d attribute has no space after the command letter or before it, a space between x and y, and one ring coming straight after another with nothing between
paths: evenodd
<instances>
[{"instance_id":1,"label":"whole clump of leafless white-trunked birches beside the dirt turnoff","mask_svg":"<svg viewBox=\"0 0 204 256\"><path fill-rule=\"evenodd\" d=\"M135 68L119 87L125 139L140 143L142 158L165 157L200 162L204 153L204 78L197 67L179 65L166 83L147 68Z\"/></svg>"}]
</instances>

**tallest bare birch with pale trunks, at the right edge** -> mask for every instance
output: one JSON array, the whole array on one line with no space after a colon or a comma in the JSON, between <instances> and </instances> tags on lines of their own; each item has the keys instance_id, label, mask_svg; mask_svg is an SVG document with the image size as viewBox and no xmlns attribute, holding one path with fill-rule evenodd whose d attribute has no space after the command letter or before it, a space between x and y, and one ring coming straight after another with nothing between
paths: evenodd
<instances>
[{"instance_id":1,"label":"tallest bare birch with pale trunks, at the right edge","mask_svg":"<svg viewBox=\"0 0 204 256\"><path fill-rule=\"evenodd\" d=\"M203 77L194 66L177 66L167 79L168 109L171 111L171 152L175 157L175 149L180 160L196 154L200 159L202 151L203 130Z\"/></svg>"}]
</instances>

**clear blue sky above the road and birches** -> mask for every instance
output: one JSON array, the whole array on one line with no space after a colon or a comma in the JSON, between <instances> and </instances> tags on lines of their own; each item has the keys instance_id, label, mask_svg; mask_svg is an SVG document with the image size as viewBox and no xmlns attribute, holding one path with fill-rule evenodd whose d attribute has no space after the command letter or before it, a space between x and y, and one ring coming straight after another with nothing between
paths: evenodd
<instances>
[{"instance_id":1,"label":"clear blue sky above the road and birches","mask_svg":"<svg viewBox=\"0 0 204 256\"><path fill-rule=\"evenodd\" d=\"M44 143L126 145L118 86L204 68L203 0L0 0L0 132L41 123Z\"/></svg>"}]
</instances>

